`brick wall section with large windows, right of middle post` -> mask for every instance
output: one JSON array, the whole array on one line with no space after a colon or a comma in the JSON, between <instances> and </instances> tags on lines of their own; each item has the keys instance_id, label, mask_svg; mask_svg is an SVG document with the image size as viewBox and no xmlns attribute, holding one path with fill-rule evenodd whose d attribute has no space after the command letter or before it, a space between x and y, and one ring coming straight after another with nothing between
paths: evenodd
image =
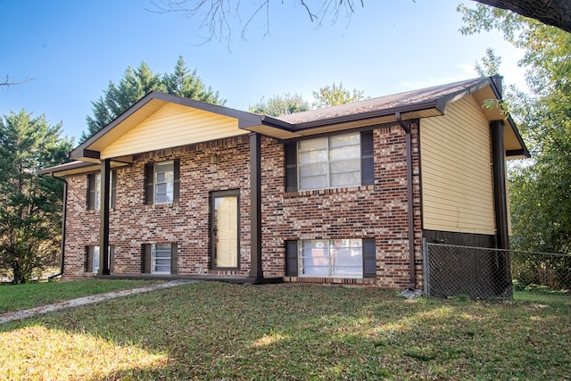
<instances>
[{"instance_id":1,"label":"brick wall section with large windows, right of middle post","mask_svg":"<svg viewBox=\"0 0 571 381\"><path fill-rule=\"evenodd\" d=\"M421 280L418 128L413 132L415 253ZM400 127L373 134L375 185L284 193L283 145L262 139L262 245L264 275L285 275L285 240L371 238L377 244L377 279L287 277L289 281L409 285L406 136Z\"/></svg>"}]
</instances>

